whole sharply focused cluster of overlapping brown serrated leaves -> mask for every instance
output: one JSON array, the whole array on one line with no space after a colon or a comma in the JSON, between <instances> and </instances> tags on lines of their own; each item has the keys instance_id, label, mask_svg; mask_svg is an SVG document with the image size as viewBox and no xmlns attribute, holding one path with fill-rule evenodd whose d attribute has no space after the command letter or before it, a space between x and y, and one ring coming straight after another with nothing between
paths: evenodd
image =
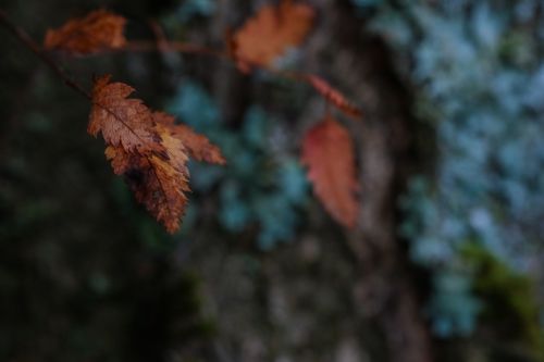
<instances>
[{"instance_id":1,"label":"whole sharply focused cluster of overlapping brown serrated leaves","mask_svg":"<svg viewBox=\"0 0 544 362\"><path fill-rule=\"evenodd\" d=\"M110 83L108 75L96 79L88 132L102 134L113 172L124 176L136 200L169 233L175 233L190 191L189 155L218 164L225 161L205 136L175 124L166 113L152 112L139 99L127 98L133 91L126 84Z\"/></svg>"}]
</instances>

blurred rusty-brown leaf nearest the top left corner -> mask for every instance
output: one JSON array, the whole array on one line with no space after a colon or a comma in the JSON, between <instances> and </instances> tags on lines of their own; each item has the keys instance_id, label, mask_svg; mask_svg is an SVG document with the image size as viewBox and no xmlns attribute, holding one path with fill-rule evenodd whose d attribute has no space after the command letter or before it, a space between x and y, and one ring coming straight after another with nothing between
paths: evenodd
<instances>
[{"instance_id":1,"label":"blurred rusty-brown leaf nearest the top left corner","mask_svg":"<svg viewBox=\"0 0 544 362\"><path fill-rule=\"evenodd\" d=\"M83 18L69 21L46 33L44 47L75 54L89 54L126 43L123 29L126 20L107 10L96 10Z\"/></svg>"}]
</instances>

